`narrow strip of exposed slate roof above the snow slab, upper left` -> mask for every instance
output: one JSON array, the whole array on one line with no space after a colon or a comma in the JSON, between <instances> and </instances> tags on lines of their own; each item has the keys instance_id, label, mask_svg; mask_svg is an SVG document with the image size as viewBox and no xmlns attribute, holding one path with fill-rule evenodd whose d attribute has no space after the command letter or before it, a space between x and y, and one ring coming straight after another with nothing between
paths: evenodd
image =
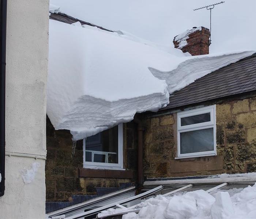
<instances>
[{"instance_id":1,"label":"narrow strip of exposed slate roof above the snow slab, upper left","mask_svg":"<svg viewBox=\"0 0 256 219\"><path fill-rule=\"evenodd\" d=\"M77 18L73 18L73 17L71 17L71 16L69 16L67 14L63 14L63 13L60 13L60 12L58 14L50 13L49 18L52 19L52 20L57 20L57 21L60 21L60 22L63 22L63 23L67 23L67 24L72 24L72 23L75 23L75 22L79 21L82 25L86 24L86 25L89 25L89 26L92 26L92 27L98 27L101 30L106 30L106 31L109 31L109 32L114 32L114 31L108 30L108 29L106 29L104 27L97 26L95 24L92 24L92 23L89 23L89 22L85 22L83 20L79 20Z\"/></svg>"}]
</instances>

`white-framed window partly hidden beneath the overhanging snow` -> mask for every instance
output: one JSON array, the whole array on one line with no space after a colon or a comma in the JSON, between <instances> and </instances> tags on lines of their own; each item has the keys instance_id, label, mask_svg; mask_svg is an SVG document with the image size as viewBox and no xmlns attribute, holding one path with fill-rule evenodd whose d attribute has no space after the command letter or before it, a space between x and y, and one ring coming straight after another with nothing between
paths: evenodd
<instances>
[{"instance_id":1,"label":"white-framed window partly hidden beneath the overhanging snow","mask_svg":"<svg viewBox=\"0 0 256 219\"><path fill-rule=\"evenodd\" d=\"M84 168L123 168L123 124L83 139Z\"/></svg>"}]
</instances>

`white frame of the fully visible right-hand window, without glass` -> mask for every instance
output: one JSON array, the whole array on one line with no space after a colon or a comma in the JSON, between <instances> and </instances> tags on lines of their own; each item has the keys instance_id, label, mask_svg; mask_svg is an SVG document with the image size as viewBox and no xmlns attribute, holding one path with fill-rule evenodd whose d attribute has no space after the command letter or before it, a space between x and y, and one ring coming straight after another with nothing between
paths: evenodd
<instances>
[{"instance_id":1,"label":"white frame of the fully visible right-hand window, without glass","mask_svg":"<svg viewBox=\"0 0 256 219\"><path fill-rule=\"evenodd\" d=\"M203 123L191 124L191 125L187 125L187 126L181 126L181 118L205 114L208 112L210 112L210 115L211 115L210 122L203 122ZM181 147L180 133L188 132L188 131L195 131L195 130L202 130L202 129L206 129L206 128L213 128L214 150L181 154L180 153L180 147ZM188 111L177 113L177 145L178 145L178 154L177 154L178 156L175 159L217 155L217 149L216 149L216 145L217 145L216 144L216 105L211 105L208 107L202 107L202 108L197 108L195 110L188 110Z\"/></svg>"}]
</instances>

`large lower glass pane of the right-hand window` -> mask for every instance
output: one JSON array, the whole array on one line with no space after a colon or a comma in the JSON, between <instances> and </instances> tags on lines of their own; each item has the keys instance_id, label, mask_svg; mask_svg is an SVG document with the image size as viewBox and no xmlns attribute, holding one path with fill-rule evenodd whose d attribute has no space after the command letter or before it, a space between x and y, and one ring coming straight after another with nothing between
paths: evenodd
<instances>
[{"instance_id":1,"label":"large lower glass pane of the right-hand window","mask_svg":"<svg viewBox=\"0 0 256 219\"><path fill-rule=\"evenodd\" d=\"M181 154L214 150L213 128L180 133Z\"/></svg>"}]
</instances>

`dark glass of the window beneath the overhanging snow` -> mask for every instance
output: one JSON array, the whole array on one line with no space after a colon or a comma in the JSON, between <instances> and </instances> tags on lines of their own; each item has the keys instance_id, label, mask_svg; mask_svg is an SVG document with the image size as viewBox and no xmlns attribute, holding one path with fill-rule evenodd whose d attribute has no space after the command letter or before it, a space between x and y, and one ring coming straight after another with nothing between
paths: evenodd
<instances>
[{"instance_id":1,"label":"dark glass of the window beneath the overhanging snow","mask_svg":"<svg viewBox=\"0 0 256 219\"><path fill-rule=\"evenodd\" d=\"M91 162L91 154L89 155L88 153L94 152L94 162L118 164L118 126L86 138L85 150L85 161ZM97 154L97 151L103 153Z\"/></svg>"}]
</instances>

